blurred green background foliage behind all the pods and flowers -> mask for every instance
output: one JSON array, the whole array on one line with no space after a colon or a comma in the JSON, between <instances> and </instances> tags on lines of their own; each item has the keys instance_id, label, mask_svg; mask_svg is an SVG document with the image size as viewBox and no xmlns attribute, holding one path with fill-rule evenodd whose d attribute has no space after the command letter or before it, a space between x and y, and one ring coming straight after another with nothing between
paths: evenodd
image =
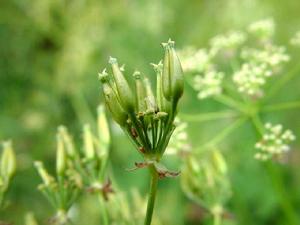
<instances>
[{"instance_id":1,"label":"blurred green background foliage behind all the pods and flowers","mask_svg":"<svg viewBox=\"0 0 300 225\"><path fill-rule=\"evenodd\" d=\"M276 42L287 45L300 29L300 2L297 0L9 0L0 2L0 140L11 139L19 161L18 173L7 199L9 207L1 219L23 224L32 211L41 224L53 210L36 187L40 183L32 163L43 160L54 170L55 132L64 124L81 143L81 127L93 122L102 101L97 73L107 67L109 56L126 64L126 71L139 69L153 74L149 63L163 55L160 43L169 37L177 48L207 46L218 33L244 29L253 21L272 17L277 25ZM299 63L299 52L291 50L288 72ZM300 97L296 77L272 99L274 102ZM218 110L212 101L199 101L187 87L181 102L182 113ZM274 122L300 134L299 111L268 115ZM219 127L231 121L190 123L192 146L199 147ZM125 169L141 161L129 140L113 123L110 165L121 189L148 190L147 171ZM221 145L228 162L233 197L227 209L234 224L300 224L300 141L294 143L293 160L278 169L284 193L269 178L264 167L253 160L257 137L250 124L243 125ZM176 169L179 159L166 163ZM283 199L283 201L282 201ZM283 202L283 203L282 203ZM283 207L282 207L283 204ZM284 208L284 210L283 210ZM82 221L99 224L93 198L80 200ZM160 182L155 214L162 224L210 224L180 189L179 179ZM284 215L298 217L291 224ZM292 214L292 215L291 215ZM88 219L87 219L88 218ZM80 220L81 221L81 220Z\"/></svg>"}]
</instances>

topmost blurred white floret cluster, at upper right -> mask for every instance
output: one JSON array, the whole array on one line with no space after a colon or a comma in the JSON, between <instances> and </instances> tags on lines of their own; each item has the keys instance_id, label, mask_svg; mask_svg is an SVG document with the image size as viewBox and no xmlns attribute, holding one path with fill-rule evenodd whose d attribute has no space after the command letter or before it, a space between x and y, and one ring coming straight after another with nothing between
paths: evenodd
<instances>
[{"instance_id":1,"label":"topmost blurred white floret cluster, at upper right","mask_svg":"<svg viewBox=\"0 0 300 225\"><path fill-rule=\"evenodd\" d=\"M249 25L248 31L261 40L270 39L275 31L274 20L269 18L256 21Z\"/></svg>"}]
</instances>

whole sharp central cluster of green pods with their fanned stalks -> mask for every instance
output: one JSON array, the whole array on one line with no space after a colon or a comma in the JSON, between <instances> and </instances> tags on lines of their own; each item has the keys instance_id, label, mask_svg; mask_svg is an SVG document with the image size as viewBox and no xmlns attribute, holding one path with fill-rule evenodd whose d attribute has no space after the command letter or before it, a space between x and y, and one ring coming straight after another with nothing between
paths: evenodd
<instances>
[{"instance_id":1,"label":"whole sharp central cluster of green pods with their fanned stalks","mask_svg":"<svg viewBox=\"0 0 300 225\"><path fill-rule=\"evenodd\" d=\"M160 161L175 129L177 104L183 94L183 72L174 42L169 40L163 47L163 63L153 64L157 75L156 95L150 80L138 71L133 73L133 92L115 58L109 59L113 75L106 70L99 74L112 118L148 162Z\"/></svg>"}]
</instances>

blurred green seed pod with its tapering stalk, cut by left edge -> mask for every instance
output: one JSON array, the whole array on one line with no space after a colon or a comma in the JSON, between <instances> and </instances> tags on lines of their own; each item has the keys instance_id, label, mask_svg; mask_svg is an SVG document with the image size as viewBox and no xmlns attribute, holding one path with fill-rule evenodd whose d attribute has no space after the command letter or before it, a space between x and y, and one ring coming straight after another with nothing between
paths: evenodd
<instances>
[{"instance_id":1,"label":"blurred green seed pod with its tapering stalk, cut by left edge","mask_svg":"<svg viewBox=\"0 0 300 225\"><path fill-rule=\"evenodd\" d=\"M4 194L7 191L12 177L16 172L16 156L11 141L2 144L3 150L0 156L0 210L3 205Z\"/></svg>"}]
</instances>

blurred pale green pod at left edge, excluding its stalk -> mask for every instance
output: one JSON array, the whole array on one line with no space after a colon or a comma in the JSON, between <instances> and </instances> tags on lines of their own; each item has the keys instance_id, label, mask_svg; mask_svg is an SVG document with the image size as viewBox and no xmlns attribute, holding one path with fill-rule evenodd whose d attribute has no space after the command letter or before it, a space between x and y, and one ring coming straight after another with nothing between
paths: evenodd
<instances>
[{"instance_id":1,"label":"blurred pale green pod at left edge, excluding its stalk","mask_svg":"<svg viewBox=\"0 0 300 225\"><path fill-rule=\"evenodd\" d=\"M3 152L1 156L1 176L3 179L10 180L15 174L17 168L17 160L11 141L3 143Z\"/></svg>"}]
</instances>

